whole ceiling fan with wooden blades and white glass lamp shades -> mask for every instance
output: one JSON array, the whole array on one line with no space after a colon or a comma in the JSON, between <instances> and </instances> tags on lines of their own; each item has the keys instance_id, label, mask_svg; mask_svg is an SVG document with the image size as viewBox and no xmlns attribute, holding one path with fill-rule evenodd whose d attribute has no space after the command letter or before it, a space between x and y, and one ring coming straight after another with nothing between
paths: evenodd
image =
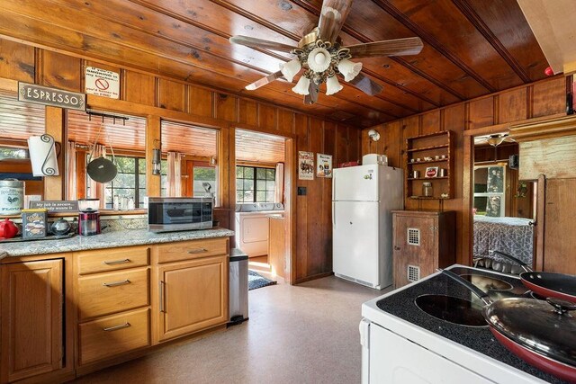
<instances>
[{"instance_id":1,"label":"whole ceiling fan with wooden blades and white glass lamp shades","mask_svg":"<svg viewBox=\"0 0 576 384\"><path fill-rule=\"evenodd\" d=\"M422 50L422 40L418 37L374 41L365 44L342 46L338 36L347 15L352 8L353 0L324 0L320 12L318 27L304 35L298 47L287 44L251 38L232 36L229 40L251 48L272 49L290 52L296 56L293 60L281 64L280 70L247 85L247 90L255 90L284 76L293 81L303 69L302 76L293 87L293 92L304 95L304 103L312 104L318 100L320 85L326 83L326 94L336 94L343 86L338 83L338 76L365 94L374 96L382 92L383 87L360 73L362 63L350 61L351 58L376 58L385 56L418 55Z\"/></svg>"}]
</instances>

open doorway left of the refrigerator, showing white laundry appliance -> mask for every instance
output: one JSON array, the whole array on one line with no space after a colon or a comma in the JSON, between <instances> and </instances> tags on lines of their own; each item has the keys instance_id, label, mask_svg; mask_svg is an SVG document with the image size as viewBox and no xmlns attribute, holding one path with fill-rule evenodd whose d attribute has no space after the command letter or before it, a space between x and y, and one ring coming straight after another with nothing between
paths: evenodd
<instances>
[{"instance_id":1,"label":"open doorway left of the refrigerator, showing white laundry appliance","mask_svg":"<svg viewBox=\"0 0 576 384\"><path fill-rule=\"evenodd\" d=\"M279 282L291 281L290 138L235 130L235 242L248 269Z\"/></svg>"}]
</instances>

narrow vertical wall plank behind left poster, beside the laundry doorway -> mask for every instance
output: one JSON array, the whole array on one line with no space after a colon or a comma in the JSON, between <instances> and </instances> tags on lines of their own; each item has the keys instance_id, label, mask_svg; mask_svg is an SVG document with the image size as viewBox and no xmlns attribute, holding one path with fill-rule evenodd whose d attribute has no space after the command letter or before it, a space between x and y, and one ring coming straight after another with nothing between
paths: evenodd
<instances>
[{"instance_id":1,"label":"narrow vertical wall plank behind left poster, beside the laundry doorway","mask_svg":"<svg viewBox=\"0 0 576 384\"><path fill-rule=\"evenodd\" d=\"M296 113L296 134L297 151L309 151L309 132L310 132L310 119L300 113ZM296 156L298 154L296 153ZM293 265L295 272L293 275L295 277L294 281L300 281L308 276L308 257L309 257L309 247L308 247L308 222L309 222L309 209L308 209L308 193L311 191L311 185L314 181L298 180L296 176L296 185L298 187L306 188L306 195L296 196L296 263ZM313 206L311 206L312 208Z\"/></svg>"}]
</instances>

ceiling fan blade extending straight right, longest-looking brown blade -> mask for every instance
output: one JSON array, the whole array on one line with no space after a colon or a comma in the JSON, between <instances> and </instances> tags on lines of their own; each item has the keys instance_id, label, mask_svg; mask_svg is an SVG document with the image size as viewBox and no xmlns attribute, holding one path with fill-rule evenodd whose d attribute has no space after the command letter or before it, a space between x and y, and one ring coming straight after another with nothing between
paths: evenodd
<instances>
[{"instance_id":1,"label":"ceiling fan blade extending straight right, longest-looking brown blade","mask_svg":"<svg viewBox=\"0 0 576 384\"><path fill-rule=\"evenodd\" d=\"M374 41L366 44L351 45L352 58L376 58L383 56L418 55L424 44L420 38Z\"/></svg>"}]
</instances>

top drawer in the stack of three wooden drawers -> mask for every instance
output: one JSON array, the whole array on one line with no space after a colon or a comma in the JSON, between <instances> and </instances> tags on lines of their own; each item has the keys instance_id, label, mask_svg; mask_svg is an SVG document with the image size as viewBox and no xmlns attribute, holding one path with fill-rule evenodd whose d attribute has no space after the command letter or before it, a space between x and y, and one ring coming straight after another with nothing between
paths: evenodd
<instances>
[{"instance_id":1,"label":"top drawer in the stack of three wooden drawers","mask_svg":"<svg viewBox=\"0 0 576 384\"><path fill-rule=\"evenodd\" d=\"M78 274L116 271L148 265L148 246L112 248L76 254Z\"/></svg>"}]
</instances>

